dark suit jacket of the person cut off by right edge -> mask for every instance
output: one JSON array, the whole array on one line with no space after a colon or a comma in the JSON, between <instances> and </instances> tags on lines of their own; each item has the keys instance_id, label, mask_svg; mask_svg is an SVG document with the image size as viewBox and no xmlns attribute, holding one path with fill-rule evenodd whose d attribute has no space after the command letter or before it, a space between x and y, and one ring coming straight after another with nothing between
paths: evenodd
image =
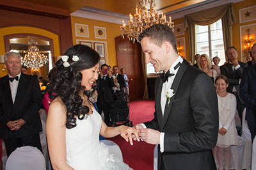
<instances>
[{"instance_id":1,"label":"dark suit jacket of the person cut off by right edge","mask_svg":"<svg viewBox=\"0 0 256 170\"><path fill-rule=\"evenodd\" d=\"M246 105L245 119L256 123L256 64L244 68L240 96Z\"/></svg>"}]
</instances>

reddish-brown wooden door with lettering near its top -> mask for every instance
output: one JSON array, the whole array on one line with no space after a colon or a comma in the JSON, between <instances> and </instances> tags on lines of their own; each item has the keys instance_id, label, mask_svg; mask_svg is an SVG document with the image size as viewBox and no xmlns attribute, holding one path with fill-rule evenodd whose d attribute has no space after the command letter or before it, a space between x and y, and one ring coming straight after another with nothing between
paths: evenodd
<instances>
[{"instance_id":1,"label":"reddish-brown wooden door with lettering near its top","mask_svg":"<svg viewBox=\"0 0 256 170\"><path fill-rule=\"evenodd\" d=\"M130 100L142 99L145 82L141 65L141 45L140 43L133 44L121 36L117 36L115 42L119 72L121 68L124 68L129 79Z\"/></svg>"}]
</instances>

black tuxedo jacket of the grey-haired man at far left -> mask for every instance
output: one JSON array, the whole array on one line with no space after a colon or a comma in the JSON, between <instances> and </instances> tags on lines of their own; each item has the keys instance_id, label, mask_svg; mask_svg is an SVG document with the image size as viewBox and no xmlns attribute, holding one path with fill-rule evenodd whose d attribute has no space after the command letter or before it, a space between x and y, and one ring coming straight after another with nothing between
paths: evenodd
<instances>
[{"instance_id":1,"label":"black tuxedo jacket of the grey-haired man at far left","mask_svg":"<svg viewBox=\"0 0 256 170\"><path fill-rule=\"evenodd\" d=\"M0 138L19 138L38 134L42 131L39 110L42 105L42 95L36 77L21 73L15 102L8 75L0 79ZM10 130L8 121L22 118L26 123L19 130Z\"/></svg>"}]
</instances>

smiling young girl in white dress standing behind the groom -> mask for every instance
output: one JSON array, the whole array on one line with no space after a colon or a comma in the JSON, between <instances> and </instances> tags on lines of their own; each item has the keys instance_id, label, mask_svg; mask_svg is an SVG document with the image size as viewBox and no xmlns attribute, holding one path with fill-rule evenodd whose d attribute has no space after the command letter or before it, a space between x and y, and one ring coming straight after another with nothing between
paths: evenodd
<instances>
[{"instance_id":1,"label":"smiling young girl in white dress standing behind the groom","mask_svg":"<svg viewBox=\"0 0 256 170\"><path fill-rule=\"evenodd\" d=\"M238 145L236 130L236 96L227 92L228 79L225 75L218 75L215 81L219 107L219 134L217 140L217 159L219 169L223 169L225 158L225 170L229 169L231 158L231 146Z\"/></svg>"}]
</instances>

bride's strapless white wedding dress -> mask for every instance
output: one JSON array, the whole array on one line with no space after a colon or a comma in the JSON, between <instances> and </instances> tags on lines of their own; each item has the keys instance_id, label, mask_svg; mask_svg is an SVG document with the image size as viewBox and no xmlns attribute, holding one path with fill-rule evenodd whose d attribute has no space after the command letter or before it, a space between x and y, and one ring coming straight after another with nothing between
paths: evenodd
<instances>
[{"instance_id":1,"label":"bride's strapless white wedding dress","mask_svg":"<svg viewBox=\"0 0 256 170\"><path fill-rule=\"evenodd\" d=\"M66 128L67 164L79 169L131 169L121 158L109 153L108 147L99 142L100 114L93 113L83 120L77 118L77 126Z\"/></svg>"}]
</instances>

